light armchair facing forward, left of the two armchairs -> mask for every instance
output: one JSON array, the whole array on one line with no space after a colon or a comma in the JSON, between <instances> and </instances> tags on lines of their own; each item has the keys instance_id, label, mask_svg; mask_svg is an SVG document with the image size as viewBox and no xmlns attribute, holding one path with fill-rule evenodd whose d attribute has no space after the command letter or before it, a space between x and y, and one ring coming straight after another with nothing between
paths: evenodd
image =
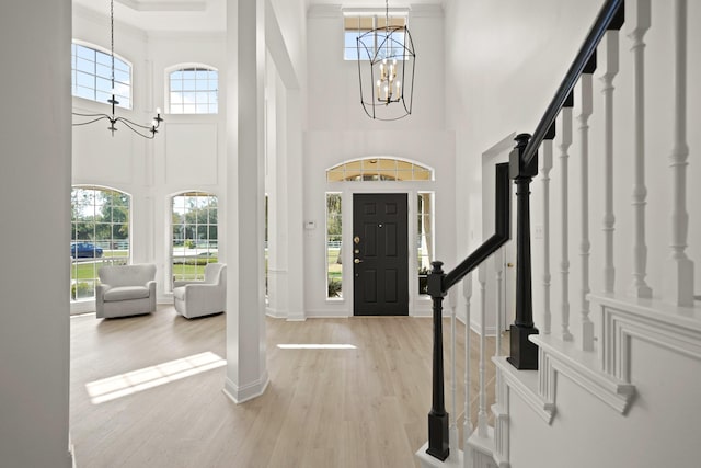
<instances>
[{"instance_id":1,"label":"light armchair facing forward, left of the two armchairs","mask_svg":"<svg viewBox=\"0 0 701 468\"><path fill-rule=\"evenodd\" d=\"M97 318L136 316L156 311L156 265L136 264L97 269Z\"/></svg>"}]
</instances>

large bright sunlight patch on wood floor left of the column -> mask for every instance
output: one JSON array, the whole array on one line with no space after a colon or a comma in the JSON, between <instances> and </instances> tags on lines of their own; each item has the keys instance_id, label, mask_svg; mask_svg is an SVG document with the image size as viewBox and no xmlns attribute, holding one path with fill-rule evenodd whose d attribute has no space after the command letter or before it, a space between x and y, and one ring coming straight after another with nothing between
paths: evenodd
<instances>
[{"instance_id":1,"label":"large bright sunlight patch on wood floor left of the column","mask_svg":"<svg viewBox=\"0 0 701 468\"><path fill-rule=\"evenodd\" d=\"M194 354L142 369L119 374L85 384L90 401L104 403L117 398L180 380L196 374L225 366L227 362L211 352Z\"/></svg>"}]
</instances>

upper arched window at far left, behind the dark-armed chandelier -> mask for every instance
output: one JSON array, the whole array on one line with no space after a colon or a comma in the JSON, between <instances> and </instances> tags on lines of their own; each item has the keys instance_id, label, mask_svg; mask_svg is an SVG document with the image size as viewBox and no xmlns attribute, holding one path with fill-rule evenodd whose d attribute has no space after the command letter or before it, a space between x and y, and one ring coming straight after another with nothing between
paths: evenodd
<instances>
[{"instance_id":1,"label":"upper arched window at far left, behind the dark-armed chandelier","mask_svg":"<svg viewBox=\"0 0 701 468\"><path fill-rule=\"evenodd\" d=\"M71 92L107 104L112 99L112 56L96 48L71 44ZM131 109L131 65L114 57L114 95L118 107Z\"/></svg>"}]
</instances>

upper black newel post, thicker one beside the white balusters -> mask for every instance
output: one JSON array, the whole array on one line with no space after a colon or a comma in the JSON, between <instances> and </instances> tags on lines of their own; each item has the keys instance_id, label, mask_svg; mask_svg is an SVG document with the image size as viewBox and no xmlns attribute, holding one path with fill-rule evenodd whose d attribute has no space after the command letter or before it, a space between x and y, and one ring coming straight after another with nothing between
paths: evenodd
<instances>
[{"instance_id":1,"label":"upper black newel post, thicker one beside the white balusters","mask_svg":"<svg viewBox=\"0 0 701 468\"><path fill-rule=\"evenodd\" d=\"M538 174L538 156L528 163L521 158L529 139L529 134L518 135L509 155L509 175L516 184L516 321L510 328L508 362L517 369L538 368L538 346L528 340L531 334L538 334L533 326L529 207L530 183Z\"/></svg>"}]
</instances>

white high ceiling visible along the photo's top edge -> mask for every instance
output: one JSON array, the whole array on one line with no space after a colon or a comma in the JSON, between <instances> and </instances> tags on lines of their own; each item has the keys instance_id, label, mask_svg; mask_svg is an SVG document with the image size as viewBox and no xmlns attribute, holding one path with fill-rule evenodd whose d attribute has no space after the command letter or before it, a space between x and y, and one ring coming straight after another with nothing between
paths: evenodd
<instances>
[{"instance_id":1,"label":"white high ceiling visible along the photo's top edge","mask_svg":"<svg viewBox=\"0 0 701 468\"><path fill-rule=\"evenodd\" d=\"M110 0L72 0L77 13L110 13ZM280 0L310 4L343 4L352 8L384 8L382 0ZM392 7L443 3L444 0L390 1ZM225 31L227 0L114 0L115 21L143 31Z\"/></svg>"}]
</instances>

